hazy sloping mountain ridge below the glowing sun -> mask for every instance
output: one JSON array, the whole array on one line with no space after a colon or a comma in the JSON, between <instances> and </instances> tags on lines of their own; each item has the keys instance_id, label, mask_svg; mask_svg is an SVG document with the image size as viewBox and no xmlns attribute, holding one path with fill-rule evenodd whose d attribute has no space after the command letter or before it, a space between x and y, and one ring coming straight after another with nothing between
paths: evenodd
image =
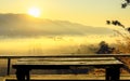
<instances>
[{"instance_id":1,"label":"hazy sloping mountain ridge below the glowing sun","mask_svg":"<svg viewBox=\"0 0 130 81\"><path fill-rule=\"evenodd\" d=\"M112 31L108 28L90 27L67 21L41 19L25 14L0 14L0 36L82 36L107 35Z\"/></svg>"}]
</instances>

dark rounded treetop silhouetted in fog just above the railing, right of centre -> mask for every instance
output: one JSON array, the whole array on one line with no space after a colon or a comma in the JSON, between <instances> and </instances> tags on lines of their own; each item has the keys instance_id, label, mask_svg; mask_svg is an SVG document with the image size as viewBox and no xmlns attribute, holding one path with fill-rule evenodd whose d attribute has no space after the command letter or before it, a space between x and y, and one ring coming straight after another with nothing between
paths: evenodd
<instances>
[{"instance_id":1,"label":"dark rounded treetop silhouetted in fog just above the railing, right of centre","mask_svg":"<svg viewBox=\"0 0 130 81\"><path fill-rule=\"evenodd\" d=\"M115 48L109 48L105 41L101 41L99 45L100 49L98 50L96 54L110 54L115 51Z\"/></svg>"}]
</instances>

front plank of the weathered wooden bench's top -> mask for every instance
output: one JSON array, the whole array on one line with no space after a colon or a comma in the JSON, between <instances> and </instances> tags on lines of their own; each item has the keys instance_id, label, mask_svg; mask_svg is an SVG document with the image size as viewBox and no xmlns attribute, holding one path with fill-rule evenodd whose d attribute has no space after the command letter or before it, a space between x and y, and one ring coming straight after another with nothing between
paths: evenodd
<instances>
[{"instance_id":1,"label":"front plank of the weathered wooden bench's top","mask_svg":"<svg viewBox=\"0 0 130 81\"><path fill-rule=\"evenodd\" d=\"M118 60L89 60L89 62L17 62L15 65L119 65Z\"/></svg>"}]
</instances>

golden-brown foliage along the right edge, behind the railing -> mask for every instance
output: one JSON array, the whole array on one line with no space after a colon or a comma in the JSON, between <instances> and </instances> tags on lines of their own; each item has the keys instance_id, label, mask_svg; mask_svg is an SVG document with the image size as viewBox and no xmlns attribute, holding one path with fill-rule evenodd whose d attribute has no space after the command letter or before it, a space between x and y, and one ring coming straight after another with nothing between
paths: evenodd
<instances>
[{"instance_id":1,"label":"golden-brown foliage along the right edge, behind the railing","mask_svg":"<svg viewBox=\"0 0 130 81\"><path fill-rule=\"evenodd\" d=\"M115 30L121 39L117 40L115 54L130 54L130 33L128 31L120 32ZM130 70L130 58L129 57L119 57L119 59L127 66L127 70ZM128 71L122 70L123 73ZM129 71L130 72L130 71Z\"/></svg>"}]
</instances>

